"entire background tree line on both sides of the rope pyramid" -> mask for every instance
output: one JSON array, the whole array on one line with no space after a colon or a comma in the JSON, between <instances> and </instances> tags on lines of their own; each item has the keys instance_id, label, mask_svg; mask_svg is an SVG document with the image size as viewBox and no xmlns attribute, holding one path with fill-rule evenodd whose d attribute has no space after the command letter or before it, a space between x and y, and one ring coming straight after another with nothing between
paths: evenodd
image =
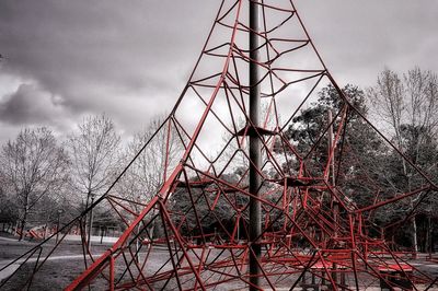
<instances>
[{"instance_id":1,"label":"entire background tree line on both sides of the rope pyramid","mask_svg":"<svg viewBox=\"0 0 438 291\"><path fill-rule=\"evenodd\" d=\"M400 74L385 69L378 75L376 84L368 89L349 84L343 90L349 102L384 131L400 150L388 148L357 114L348 115L344 148L355 150L343 152L343 161L348 166L342 167L343 173L337 173L336 185L344 187L346 194L351 193L350 198L356 205L372 203L369 197L374 195L373 184L379 184L377 195L382 198L390 191L408 193L423 183L415 168L401 159L402 155L434 182L437 181L438 81L434 72L415 68ZM341 98L333 86L322 89L318 96L316 102L293 118L286 131L287 138L301 152L308 151L309 144L319 138L327 121L325 113L328 109L341 110ZM25 230L35 221L54 223L59 213L66 221L78 216L107 189L162 120L154 118L127 143L120 141L114 123L106 115L85 117L62 141L57 140L48 128L24 128L14 140L1 147L0 219ZM165 165L160 158L160 153L165 151L163 147L165 136L155 137L116 190L134 200L147 199L148 195L154 194L163 183ZM176 140L171 142L168 150L172 161L165 163L178 161L181 147ZM326 152L326 149L320 151ZM322 154L320 159L319 162L324 163L327 156ZM291 167L288 164L284 166ZM240 175L238 172L234 176ZM229 175L230 181L235 178ZM182 209L183 200L177 203ZM436 234L437 210L438 198L431 196L423 200L418 194L373 211L371 222L376 225L393 224L394 228L388 231L389 236L425 251ZM199 211L203 211L201 206ZM410 212L413 214L406 221L408 226L397 228L395 222ZM223 213L227 213L226 207ZM97 214L114 220L105 218L104 209ZM208 221L206 219L205 223Z\"/></svg>"}]
</instances>

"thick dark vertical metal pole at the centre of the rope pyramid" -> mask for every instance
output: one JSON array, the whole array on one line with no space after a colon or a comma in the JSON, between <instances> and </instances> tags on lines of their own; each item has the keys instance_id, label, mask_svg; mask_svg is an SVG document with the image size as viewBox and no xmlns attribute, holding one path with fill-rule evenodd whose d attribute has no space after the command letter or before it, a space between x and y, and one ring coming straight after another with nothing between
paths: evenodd
<instances>
[{"instance_id":1,"label":"thick dark vertical metal pole at the centre of the rope pyramid","mask_svg":"<svg viewBox=\"0 0 438 291\"><path fill-rule=\"evenodd\" d=\"M260 0L250 0L250 119L254 127L260 125L261 89L258 77L258 14ZM254 132L254 130L252 130ZM256 135L250 135L250 193L258 197L262 177L261 168L261 140ZM260 266L262 247L261 202L254 197L250 198L250 290L260 290ZM257 288L258 287L258 288Z\"/></svg>"}]
</instances>

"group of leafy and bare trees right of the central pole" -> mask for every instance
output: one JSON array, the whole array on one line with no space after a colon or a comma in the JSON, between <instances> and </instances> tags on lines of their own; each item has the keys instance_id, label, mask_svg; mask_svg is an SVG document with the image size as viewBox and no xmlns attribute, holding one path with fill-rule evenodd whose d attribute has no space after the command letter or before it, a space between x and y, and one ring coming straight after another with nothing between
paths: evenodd
<instances>
[{"instance_id":1,"label":"group of leafy and bare trees right of the central pole","mask_svg":"<svg viewBox=\"0 0 438 291\"><path fill-rule=\"evenodd\" d=\"M384 69L373 86L365 90L348 84L343 89L350 104L383 132L389 143L350 110L342 140L344 166L336 173L336 186L355 205L370 206L403 195L427 184L423 175L438 181L438 80L431 71L419 68L400 74ZM295 117L288 138L306 152L327 124L327 110L339 113L342 98L328 85L319 92L318 102ZM335 126L336 130L336 126ZM320 163L327 160L326 148ZM413 163L410 164L407 161ZM370 223L383 229L385 238L415 251L429 251L436 243L438 198L418 193L406 199L377 208ZM435 242L434 242L435 240Z\"/></svg>"}]
</instances>

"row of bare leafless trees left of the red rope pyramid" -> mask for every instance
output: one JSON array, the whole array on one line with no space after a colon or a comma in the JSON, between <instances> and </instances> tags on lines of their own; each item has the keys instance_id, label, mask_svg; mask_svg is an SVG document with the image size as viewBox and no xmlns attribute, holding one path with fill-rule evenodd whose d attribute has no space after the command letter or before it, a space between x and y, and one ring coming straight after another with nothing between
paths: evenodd
<instances>
[{"instance_id":1,"label":"row of bare leafless trees left of the red rope pyramid","mask_svg":"<svg viewBox=\"0 0 438 291\"><path fill-rule=\"evenodd\" d=\"M155 117L126 144L106 115L88 116L64 140L47 127L24 128L0 151L0 222L19 230L68 222L105 193L145 141L160 126ZM161 160L159 141L126 174L118 190L136 199L157 190ZM129 189L129 190L128 190ZM117 223L104 208L94 216ZM4 224L3 224L4 225Z\"/></svg>"}]
</instances>

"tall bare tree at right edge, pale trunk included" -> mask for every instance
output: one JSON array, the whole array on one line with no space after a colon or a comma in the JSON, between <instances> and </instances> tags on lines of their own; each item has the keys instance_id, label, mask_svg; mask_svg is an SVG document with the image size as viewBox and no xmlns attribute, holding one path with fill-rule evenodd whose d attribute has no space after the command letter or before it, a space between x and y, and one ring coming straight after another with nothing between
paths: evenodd
<instances>
[{"instance_id":1,"label":"tall bare tree at right edge, pale trunk included","mask_svg":"<svg viewBox=\"0 0 438 291\"><path fill-rule=\"evenodd\" d=\"M419 68L410 70L403 78L389 69L378 77L377 85L369 89L368 96L380 120L389 125L390 132L399 149L426 172L437 165L434 140L438 129L438 81L437 75ZM436 154L435 154L436 155ZM416 171L401 159L405 183L400 190L411 191L418 182ZM412 210L419 196L410 198ZM418 251L417 225L415 216L412 220L413 245Z\"/></svg>"}]
</instances>

